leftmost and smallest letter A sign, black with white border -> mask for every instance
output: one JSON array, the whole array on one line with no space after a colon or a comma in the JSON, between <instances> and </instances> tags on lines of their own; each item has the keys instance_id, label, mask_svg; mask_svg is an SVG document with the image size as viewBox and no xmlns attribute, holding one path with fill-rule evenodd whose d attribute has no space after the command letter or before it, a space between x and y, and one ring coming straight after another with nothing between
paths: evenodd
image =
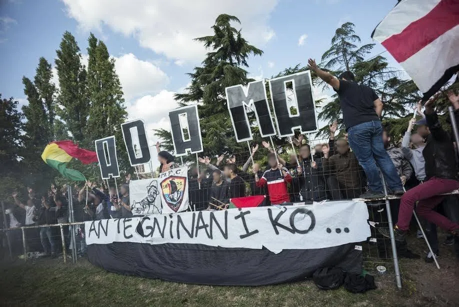
<instances>
[{"instance_id":1,"label":"leftmost and smallest letter A sign, black with white border","mask_svg":"<svg viewBox=\"0 0 459 307\"><path fill-rule=\"evenodd\" d=\"M94 143L102 179L110 179L110 176L111 178L119 177L114 135L95 140Z\"/></svg>"}]
</instances>

